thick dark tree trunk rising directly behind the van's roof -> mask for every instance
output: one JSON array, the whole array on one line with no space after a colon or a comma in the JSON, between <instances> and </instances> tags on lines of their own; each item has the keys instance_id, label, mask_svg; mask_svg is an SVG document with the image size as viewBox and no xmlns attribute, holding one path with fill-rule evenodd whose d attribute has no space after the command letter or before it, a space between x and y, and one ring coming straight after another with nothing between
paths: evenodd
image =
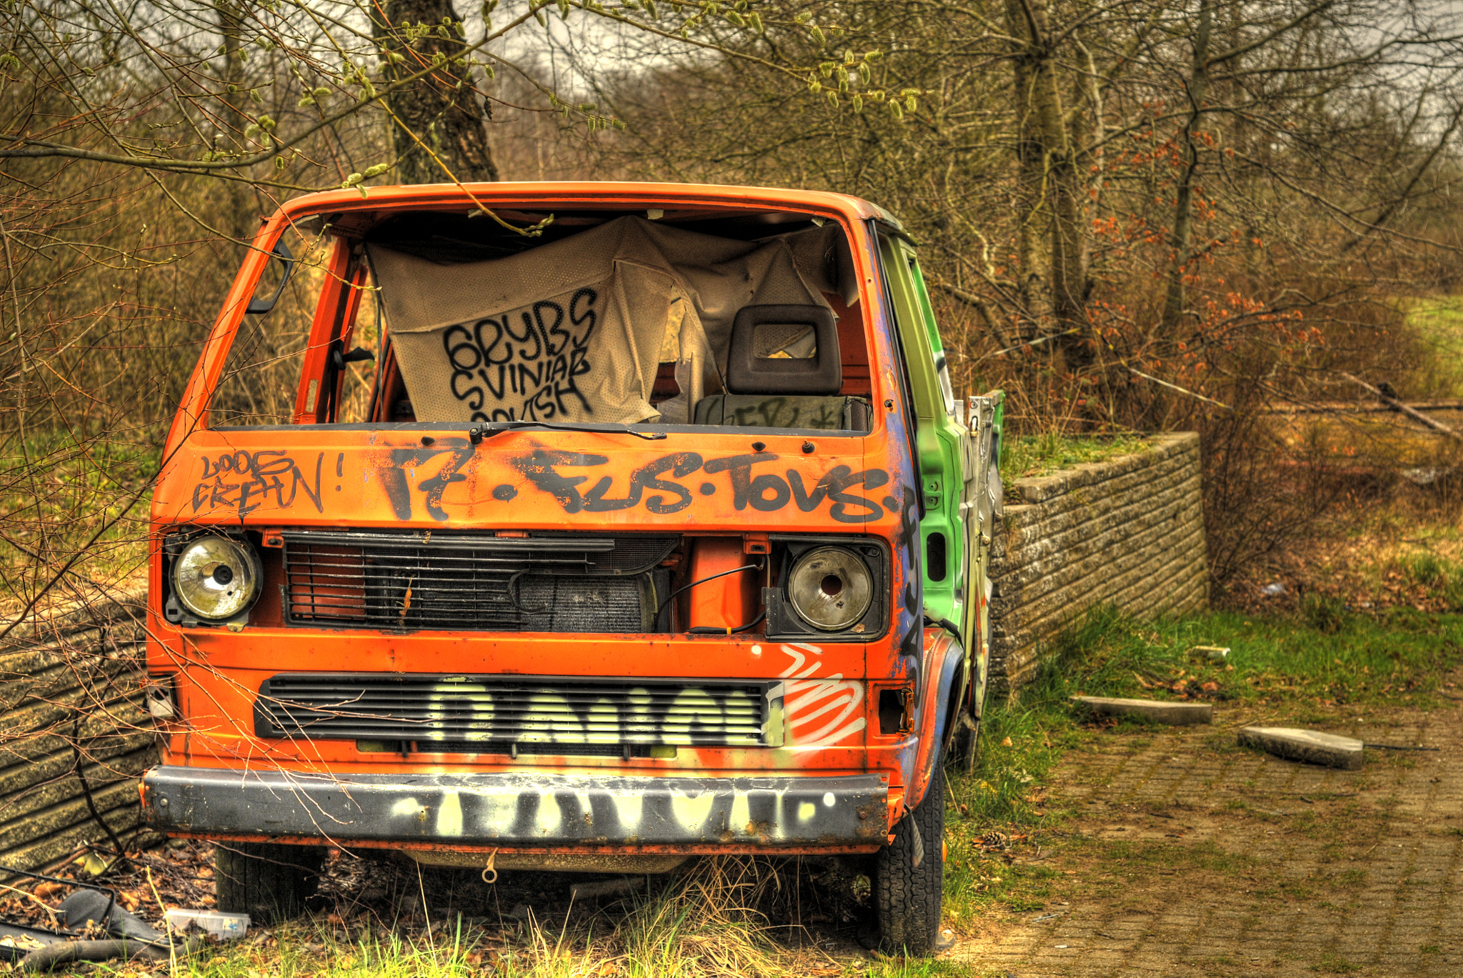
<instances>
[{"instance_id":1,"label":"thick dark tree trunk rising directly behind the van's roof","mask_svg":"<svg viewBox=\"0 0 1463 978\"><path fill-rule=\"evenodd\" d=\"M375 23L375 35L389 53L404 57L394 66L398 76L436 67L426 79L386 98L395 116L392 141L399 182L497 180L484 127L492 110L478 101L468 67L454 60L461 57L464 44L455 29L459 18L452 0L388 0L383 16L385 20ZM408 23L414 32L424 29L423 37L407 41Z\"/></svg>"}]
</instances>

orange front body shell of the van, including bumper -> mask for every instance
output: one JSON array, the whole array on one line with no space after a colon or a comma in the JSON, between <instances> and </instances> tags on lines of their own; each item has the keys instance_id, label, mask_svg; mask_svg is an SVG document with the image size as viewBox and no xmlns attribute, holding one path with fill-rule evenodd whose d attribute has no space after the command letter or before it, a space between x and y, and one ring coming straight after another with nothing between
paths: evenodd
<instances>
[{"instance_id":1,"label":"orange front body shell of the van, including bumper","mask_svg":"<svg viewBox=\"0 0 1463 978\"><path fill-rule=\"evenodd\" d=\"M828 299L841 395L868 404L868 429L636 433L326 417L338 394L322 385L341 384L328 359L351 347L358 318L366 228L396 212L473 208L794 212L841 227L857 302ZM256 283L277 243L310 221L328 227L328 264L293 417L214 423ZM142 789L152 824L176 836L492 855L497 865L887 846L969 709L963 644L983 643L957 641L948 622L925 616L920 517L935 504L920 496L906 354L875 258L881 228L897 224L832 193L626 183L341 190L269 217L187 385L152 502L148 668L173 697L161 764ZM168 605L178 548L209 533L257 555L257 599L227 622ZM666 540L664 553L660 543L645 550L660 555L647 580L695 586L655 591L651 627L632 632L423 625L413 609L437 599L414 578L392 591L394 611L363 618L372 591L357 577L376 559L372 540L385 540L385 553L410 548L429 568L462 553L535 568L560 550L593 564L617 548L629 570L626 542ZM774 555L825 545L856 545L870 562L869 624L777 634L764 602L781 600L793 558L778 565ZM484 574L494 589L508 580L508 597L494 597L512 605L505 613L568 613L530 606L527 578L515 593L512 575ZM367 700L410 709L380 726L389 710ZM492 739L511 700L530 717L515 729L553 729ZM454 717L461 735L440 735Z\"/></svg>"}]
</instances>

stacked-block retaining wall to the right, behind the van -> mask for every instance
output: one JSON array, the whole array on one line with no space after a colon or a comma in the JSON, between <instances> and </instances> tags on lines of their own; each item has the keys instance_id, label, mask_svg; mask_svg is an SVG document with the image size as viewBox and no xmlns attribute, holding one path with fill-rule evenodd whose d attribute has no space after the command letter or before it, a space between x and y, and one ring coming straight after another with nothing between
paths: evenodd
<instances>
[{"instance_id":1,"label":"stacked-block retaining wall to the right, behind the van","mask_svg":"<svg viewBox=\"0 0 1463 978\"><path fill-rule=\"evenodd\" d=\"M990 564L993 690L1030 679L1042 646L1088 608L1208 606L1198 435L1150 445L1008 488Z\"/></svg>"}]
</instances>

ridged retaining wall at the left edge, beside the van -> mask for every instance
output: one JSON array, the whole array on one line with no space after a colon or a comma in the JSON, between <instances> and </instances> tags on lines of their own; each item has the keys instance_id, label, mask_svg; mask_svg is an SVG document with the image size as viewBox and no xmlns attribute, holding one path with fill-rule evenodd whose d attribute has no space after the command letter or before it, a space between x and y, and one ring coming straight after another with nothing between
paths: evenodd
<instances>
[{"instance_id":1,"label":"ridged retaining wall at the left edge, beside the van","mask_svg":"<svg viewBox=\"0 0 1463 978\"><path fill-rule=\"evenodd\" d=\"M0 862L35 870L86 843L110 849L97 814L123 837L138 827L136 779L157 763L143 621L140 596L104 599L0 641Z\"/></svg>"}]
</instances>

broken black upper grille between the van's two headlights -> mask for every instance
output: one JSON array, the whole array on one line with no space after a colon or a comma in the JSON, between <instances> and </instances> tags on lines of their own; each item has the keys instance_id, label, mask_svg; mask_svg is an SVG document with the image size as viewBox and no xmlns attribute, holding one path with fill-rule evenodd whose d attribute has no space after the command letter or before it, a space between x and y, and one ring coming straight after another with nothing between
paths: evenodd
<instances>
[{"instance_id":1,"label":"broken black upper grille between the van's two headlights","mask_svg":"<svg viewBox=\"0 0 1463 978\"><path fill-rule=\"evenodd\" d=\"M389 630L642 632L669 536L291 530L285 618Z\"/></svg>"}]
</instances>

